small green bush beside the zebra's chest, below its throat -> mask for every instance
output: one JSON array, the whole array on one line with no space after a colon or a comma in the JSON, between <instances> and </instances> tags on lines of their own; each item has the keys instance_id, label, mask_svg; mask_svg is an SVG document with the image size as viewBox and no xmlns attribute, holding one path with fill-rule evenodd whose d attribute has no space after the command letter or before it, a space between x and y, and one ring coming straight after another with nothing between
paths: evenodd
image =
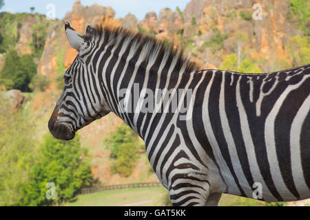
<instances>
[{"instance_id":1,"label":"small green bush beside the zebra's chest, below its throat","mask_svg":"<svg viewBox=\"0 0 310 220\"><path fill-rule=\"evenodd\" d=\"M129 126L122 125L115 132L110 133L110 137L105 139L104 144L111 151L110 157L116 159L111 169L112 173L130 176L136 165L138 151L144 148L139 142L138 135Z\"/></svg>"}]
</instances>

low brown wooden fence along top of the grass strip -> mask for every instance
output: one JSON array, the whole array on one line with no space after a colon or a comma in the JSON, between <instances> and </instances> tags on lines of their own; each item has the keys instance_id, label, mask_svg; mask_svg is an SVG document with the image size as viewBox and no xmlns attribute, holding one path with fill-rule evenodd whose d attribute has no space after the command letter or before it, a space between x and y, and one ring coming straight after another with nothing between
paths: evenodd
<instances>
[{"instance_id":1,"label":"low brown wooden fence along top of the grass strip","mask_svg":"<svg viewBox=\"0 0 310 220\"><path fill-rule=\"evenodd\" d=\"M97 186L90 188L82 188L81 194L90 194L94 192L101 192L105 190L119 190L124 188L147 188L147 187L159 187L161 183L137 183L137 184L119 184L110 186Z\"/></svg>"}]
</instances>

